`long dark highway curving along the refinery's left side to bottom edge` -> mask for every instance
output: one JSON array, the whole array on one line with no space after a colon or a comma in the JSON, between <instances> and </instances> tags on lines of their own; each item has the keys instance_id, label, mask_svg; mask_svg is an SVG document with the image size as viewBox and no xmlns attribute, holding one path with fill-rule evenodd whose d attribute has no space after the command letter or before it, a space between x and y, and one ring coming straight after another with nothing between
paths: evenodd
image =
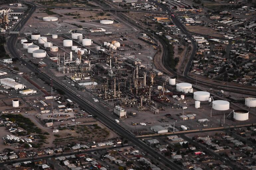
<instances>
[{"instance_id":1,"label":"long dark highway curving along the refinery's left side to bottom edge","mask_svg":"<svg viewBox=\"0 0 256 170\"><path fill-rule=\"evenodd\" d=\"M21 28L24 26L24 24L28 21L28 19L31 17L31 15L35 12L36 10L36 6L33 3L32 4L32 8L28 11L28 16L23 19L20 24L21 24ZM17 28L15 29L17 30ZM8 39L7 42L7 47L11 53L11 55L14 58L18 58L20 60L20 62L25 65L28 69L30 69L32 72L34 73L38 73L38 75L41 78L44 78L45 80L49 80L51 81L51 77L49 77L48 75L42 73L39 69L34 68L34 66L32 66L30 63L26 62L25 60L23 60L22 58L20 58L19 54L17 53L16 49L15 49L15 42L16 42L16 35L12 34L10 36L10 38ZM153 150L150 146L148 146L147 144L145 144L144 142L140 141L139 139L137 139L134 135L132 135L131 133L127 132L124 128L120 127L117 123L114 122L114 120L110 119L107 115L105 115L103 112L97 110L95 107L89 105L88 103L86 103L84 100L82 100L79 96L77 96L76 94L74 94L72 91L70 91L68 88L66 88L65 86L63 86L61 84L61 82L59 82L59 80L55 80L53 79L53 85L55 88L59 88L62 89L63 91L65 91L65 95L68 96L72 101L76 102L78 105L83 106L86 111L94 116L97 116L97 119L101 122L103 122L107 127L111 128L112 130L114 130L115 132L117 132L118 134L120 134L122 137L129 139L130 142L134 143L135 145L137 145L140 148L143 148L146 152L148 152L151 156L155 157L155 158L160 158L161 162L163 164L165 164L166 166L169 167L169 169L173 169L173 170L183 170L183 168L181 168L180 166L176 165L175 163L173 163L171 160L168 160L165 156L163 156L162 154L159 154L158 152L156 152L155 150Z\"/></svg>"}]
</instances>

